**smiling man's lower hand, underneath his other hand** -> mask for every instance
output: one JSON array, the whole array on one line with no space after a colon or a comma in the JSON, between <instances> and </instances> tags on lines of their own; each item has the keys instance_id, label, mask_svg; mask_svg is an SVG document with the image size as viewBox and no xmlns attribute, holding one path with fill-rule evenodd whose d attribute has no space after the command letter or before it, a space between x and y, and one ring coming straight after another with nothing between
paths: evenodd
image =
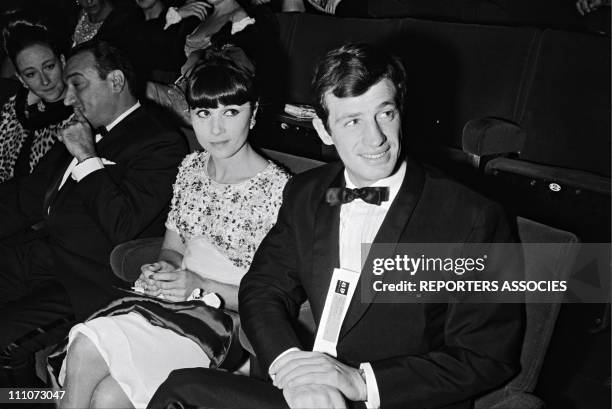
<instances>
[{"instance_id":1,"label":"smiling man's lower hand, underneath his other hand","mask_svg":"<svg viewBox=\"0 0 612 409\"><path fill-rule=\"evenodd\" d=\"M302 385L283 389L285 401L291 409L345 409L344 397L327 385Z\"/></svg>"}]
</instances>

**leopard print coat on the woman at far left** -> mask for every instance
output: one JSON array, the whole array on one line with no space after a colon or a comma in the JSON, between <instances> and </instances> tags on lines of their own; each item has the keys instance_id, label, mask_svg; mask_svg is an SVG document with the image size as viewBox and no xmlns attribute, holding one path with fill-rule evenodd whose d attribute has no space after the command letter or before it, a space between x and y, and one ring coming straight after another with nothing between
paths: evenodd
<instances>
[{"instance_id":1,"label":"leopard print coat on the woman at far left","mask_svg":"<svg viewBox=\"0 0 612 409\"><path fill-rule=\"evenodd\" d=\"M14 95L0 111L0 183L13 177L15 162L28 136L28 131L17 118L16 105ZM59 130L68 120L33 131L34 139L29 155L30 173L57 141Z\"/></svg>"}]
</instances>

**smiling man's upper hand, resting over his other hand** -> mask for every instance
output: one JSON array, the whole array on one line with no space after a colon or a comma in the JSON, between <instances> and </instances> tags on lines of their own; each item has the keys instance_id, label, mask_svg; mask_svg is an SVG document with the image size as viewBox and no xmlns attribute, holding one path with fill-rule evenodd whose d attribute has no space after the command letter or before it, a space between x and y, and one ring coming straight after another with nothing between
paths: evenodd
<instances>
[{"instance_id":1,"label":"smiling man's upper hand, resting over his other hand","mask_svg":"<svg viewBox=\"0 0 612 409\"><path fill-rule=\"evenodd\" d=\"M352 401L367 399L366 384L359 370L321 352L288 352L270 366L269 372L279 389L326 385Z\"/></svg>"}]
</instances>

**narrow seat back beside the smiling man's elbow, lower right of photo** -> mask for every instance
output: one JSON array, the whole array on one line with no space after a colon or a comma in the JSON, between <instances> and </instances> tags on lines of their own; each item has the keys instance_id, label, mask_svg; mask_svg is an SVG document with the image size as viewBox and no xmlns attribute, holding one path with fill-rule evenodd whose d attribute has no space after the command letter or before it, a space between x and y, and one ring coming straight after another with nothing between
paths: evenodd
<instances>
[{"instance_id":1,"label":"narrow seat back beside the smiling man's elbow, lower right of photo","mask_svg":"<svg viewBox=\"0 0 612 409\"><path fill-rule=\"evenodd\" d=\"M522 217L517 218L518 232L524 246L525 279L539 279L544 274L551 280L567 280L578 254L579 240L570 232L552 228ZM538 243L545 244L538 246ZM556 246L548 244L555 243ZM476 409L495 407L501 400L514 393L529 393L536 386L548 344L552 336L563 293L559 292L555 303L535 303L537 294L526 295L526 328L521 351L521 372L503 388L478 399ZM532 301L532 302L530 302Z\"/></svg>"}]
</instances>

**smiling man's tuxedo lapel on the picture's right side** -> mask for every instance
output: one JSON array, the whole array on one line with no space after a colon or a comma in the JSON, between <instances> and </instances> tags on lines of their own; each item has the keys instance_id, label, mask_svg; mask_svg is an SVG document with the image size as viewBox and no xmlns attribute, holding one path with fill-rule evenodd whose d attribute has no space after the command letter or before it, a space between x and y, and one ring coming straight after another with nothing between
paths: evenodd
<instances>
[{"instance_id":1,"label":"smiling man's tuxedo lapel on the picture's right side","mask_svg":"<svg viewBox=\"0 0 612 409\"><path fill-rule=\"evenodd\" d=\"M411 159L407 159L404 181L374 238L374 244L389 243L394 245L385 246L384 251L381 251L383 249L377 249L376 257L390 258L394 256L397 244L401 241L402 233L406 230L414 208L421 197L423 182L424 172L421 165ZM371 271L365 267L372 265L372 258L373 254L370 252L364 263L364 268L362 268L357 288L355 288L351 304L340 328L339 340L355 326L374 302L374 295L369 296L366 294L362 297L361 291L364 274L371 274ZM366 299L365 297L368 298Z\"/></svg>"}]
</instances>

